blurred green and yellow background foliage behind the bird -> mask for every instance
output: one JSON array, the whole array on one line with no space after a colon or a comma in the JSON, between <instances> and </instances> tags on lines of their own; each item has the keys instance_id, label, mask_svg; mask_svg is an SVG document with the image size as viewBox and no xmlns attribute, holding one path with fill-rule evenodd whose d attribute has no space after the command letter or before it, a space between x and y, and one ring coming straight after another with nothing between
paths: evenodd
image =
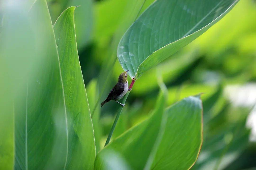
<instances>
[{"instance_id":1,"label":"blurred green and yellow background foliage behind the bird","mask_svg":"<svg viewBox=\"0 0 256 170\"><path fill-rule=\"evenodd\" d=\"M81 5L75 12L76 37L98 152L119 106L111 101L102 109L97 102L106 98L123 71L116 57L118 42L153 0L47 2L52 23L67 7ZM204 142L192 169L256 168L256 1L241 0L199 38L141 76L113 138L148 117L159 74L168 88L168 105L204 93Z\"/></svg>"}]
</instances>

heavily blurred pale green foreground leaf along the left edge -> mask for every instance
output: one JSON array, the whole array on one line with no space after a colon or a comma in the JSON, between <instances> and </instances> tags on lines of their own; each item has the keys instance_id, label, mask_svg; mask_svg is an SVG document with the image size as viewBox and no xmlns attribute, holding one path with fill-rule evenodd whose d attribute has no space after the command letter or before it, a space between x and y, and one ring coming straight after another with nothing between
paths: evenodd
<instances>
[{"instance_id":1,"label":"heavily blurred pale green foreground leaf along the left edge","mask_svg":"<svg viewBox=\"0 0 256 170\"><path fill-rule=\"evenodd\" d=\"M34 34L23 2L3 4L0 38L0 169L14 169L14 104L35 65ZM26 89L26 88L25 88Z\"/></svg>"}]
</instances>

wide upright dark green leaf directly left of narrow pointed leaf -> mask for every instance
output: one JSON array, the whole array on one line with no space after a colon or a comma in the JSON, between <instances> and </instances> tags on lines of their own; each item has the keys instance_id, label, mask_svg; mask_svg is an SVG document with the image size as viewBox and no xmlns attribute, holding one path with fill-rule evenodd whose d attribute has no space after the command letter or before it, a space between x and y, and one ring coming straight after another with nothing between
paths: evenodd
<instances>
[{"instance_id":1,"label":"wide upright dark green leaf directly left of narrow pointed leaf","mask_svg":"<svg viewBox=\"0 0 256 170\"><path fill-rule=\"evenodd\" d=\"M14 169L65 168L68 152L67 111L58 52L47 3L29 11L35 50L33 62L14 104ZM29 42L22 44L24 47ZM20 51L23 53L23 51ZM23 56L23 55L22 55ZM54 159L56 158L56 159Z\"/></svg>"}]
</instances>

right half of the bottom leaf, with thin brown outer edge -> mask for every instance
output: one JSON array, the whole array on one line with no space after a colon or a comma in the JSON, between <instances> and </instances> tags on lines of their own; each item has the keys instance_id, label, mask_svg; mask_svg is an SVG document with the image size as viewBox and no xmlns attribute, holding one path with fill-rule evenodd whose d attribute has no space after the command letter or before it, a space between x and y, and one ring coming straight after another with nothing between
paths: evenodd
<instances>
[{"instance_id":1,"label":"right half of the bottom leaf, with thin brown outer edge","mask_svg":"<svg viewBox=\"0 0 256 170\"><path fill-rule=\"evenodd\" d=\"M167 123L151 169L190 169L202 146L202 102L190 96L165 110Z\"/></svg>"}]
</instances>

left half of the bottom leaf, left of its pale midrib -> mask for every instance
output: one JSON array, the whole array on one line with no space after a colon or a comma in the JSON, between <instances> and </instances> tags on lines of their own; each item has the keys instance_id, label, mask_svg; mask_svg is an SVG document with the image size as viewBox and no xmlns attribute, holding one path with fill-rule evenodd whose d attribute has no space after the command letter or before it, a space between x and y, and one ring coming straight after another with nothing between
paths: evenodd
<instances>
[{"instance_id":1,"label":"left half of the bottom leaf, left of its pale midrib","mask_svg":"<svg viewBox=\"0 0 256 170\"><path fill-rule=\"evenodd\" d=\"M106 162L106 160L112 154L119 154L119 157L126 160L131 169L143 169L151 148L154 146L164 107L165 98L163 94L160 94L154 114L138 126L127 130L119 138L114 139L104 147L97 154L94 169L111 169L111 164L115 162ZM116 153L112 153L112 151Z\"/></svg>"}]
</instances>

